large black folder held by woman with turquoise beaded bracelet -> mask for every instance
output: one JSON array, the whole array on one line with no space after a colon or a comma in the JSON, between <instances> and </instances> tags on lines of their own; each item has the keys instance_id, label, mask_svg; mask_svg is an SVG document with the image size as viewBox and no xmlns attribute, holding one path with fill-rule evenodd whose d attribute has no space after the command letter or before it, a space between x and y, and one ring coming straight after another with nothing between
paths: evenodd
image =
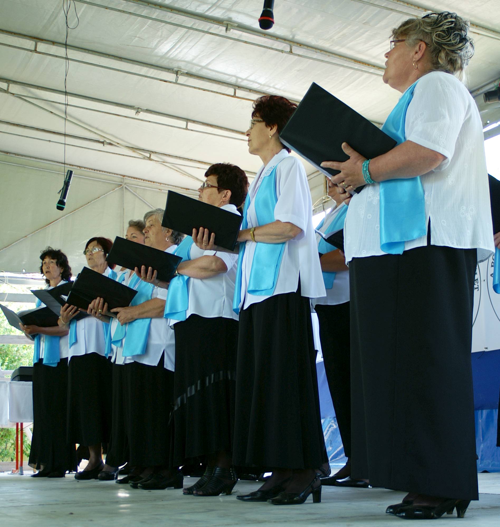
<instances>
[{"instance_id":1,"label":"large black folder held by woman with turquoise beaded bracelet","mask_svg":"<svg viewBox=\"0 0 500 527\"><path fill-rule=\"evenodd\" d=\"M396 146L394 139L315 82L279 134L279 139L326 177L339 171L321 167L323 161L349 159L342 150L344 142L366 159L385 154ZM356 192L361 192L363 187L358 187Z\"/></svg>"}]
</instances>

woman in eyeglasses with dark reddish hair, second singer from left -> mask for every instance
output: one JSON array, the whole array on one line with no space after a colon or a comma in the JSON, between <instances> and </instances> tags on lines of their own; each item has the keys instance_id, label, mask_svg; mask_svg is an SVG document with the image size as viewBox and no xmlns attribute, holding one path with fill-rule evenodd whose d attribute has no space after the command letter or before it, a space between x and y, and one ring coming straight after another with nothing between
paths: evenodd
<instances>
[{"instance_id":1,"label":"woman in eyeglasses with dark reddish hair, second singer from left","mask_svg":"<svg viewBox=\"0 0 500 527\"><path fill-rule=\"evenodd\" d=\"M116 273L106 262L112 245L108 238L91 238L84 255L89 268L114 279ZM94 317L73 320L77 314L76 306L66 304L58 324L69 327L68 440L87 446L90 453L75 479L91 480L103 470L102 444L111 432L112 373L105 356L105 324Z\"/></svg>"}]
</instances>

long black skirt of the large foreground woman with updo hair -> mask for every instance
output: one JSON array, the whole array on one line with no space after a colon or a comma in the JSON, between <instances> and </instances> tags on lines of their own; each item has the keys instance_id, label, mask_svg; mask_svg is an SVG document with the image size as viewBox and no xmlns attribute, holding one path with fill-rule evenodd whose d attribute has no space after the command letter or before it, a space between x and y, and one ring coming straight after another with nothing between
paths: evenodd
<instances>
[{"instance_id":1,"label":"long black skirt of the large foreground woman with updo hair","mask_svg":"<svg viewBox=\"0 0 500 527\"><path fill-rule=\"evenodd\" d=\"M352 476L477 500L472 389L475 249L354 258Z\"/></svg>"}]
</instances>

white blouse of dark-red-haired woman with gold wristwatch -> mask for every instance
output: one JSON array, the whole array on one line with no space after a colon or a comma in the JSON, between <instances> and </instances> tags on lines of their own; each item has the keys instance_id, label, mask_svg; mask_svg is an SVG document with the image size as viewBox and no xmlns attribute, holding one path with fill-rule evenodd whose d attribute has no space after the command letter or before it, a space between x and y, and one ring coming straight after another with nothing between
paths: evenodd
<instances>
[{"instance_id":1,"label":"white blouse of dark-red-haired woman with gold wristwatch","mask_svg":"<svg viewBox=\"0 0 500 527\"><path fill-rule=\"evenodd\" d=\"M281 161L281 163L279 163ZM274 295L295 292L298 278L301 278L301 294L304 297L316 298L325 296L325 285L319 265L318 249L313 227L313 204L307 182L307 175L302 163L286 149L277 153L265 167L261 167L253 180L248 194L251 202L247 210L248 228L257 227L255 213L255 195L262 182L261 174L269 173L276 168L276 195L278 201L274 209L274 218L282 222L293 223L302 229L292 240L285 242L285 250L279 267L278 278L273 295L257 296L247 292L252 261L257 242L247 241L242 260L242 290L240 309L262 302Z\"/></svg>"}]
</instances>

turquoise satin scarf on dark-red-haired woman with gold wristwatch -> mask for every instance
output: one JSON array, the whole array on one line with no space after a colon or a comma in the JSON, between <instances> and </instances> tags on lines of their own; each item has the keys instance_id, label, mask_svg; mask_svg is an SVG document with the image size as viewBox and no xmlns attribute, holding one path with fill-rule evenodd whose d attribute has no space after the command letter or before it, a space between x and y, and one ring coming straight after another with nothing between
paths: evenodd
<instances>
[{"instance_id":1,"label":"turquoise satin scarf on dark-red-haired woman with gold wristwatch","mask_svg":"<svg viewBox=\"0 0 500 527\"><path fill-rule=\"evenodd\" d=\"M278 163L279 164L279 163ZM276 194L276 164L275 167L262 177L261 184L255 194L255 214L257 226L266 225L275 221L274 209L278 202ZM242 229L248 228L247 211L250 205L249 194L246 196L243 208ZM236 286L234 289L233 311L239 313L242 287L242 261L245 253L246 242L239 244L238 268L236 271ZM279 266L283 258L285 243L257 243L248 279L248 293L256 296L270 296L276 287Z\"/></svg>"}]
</instances>

